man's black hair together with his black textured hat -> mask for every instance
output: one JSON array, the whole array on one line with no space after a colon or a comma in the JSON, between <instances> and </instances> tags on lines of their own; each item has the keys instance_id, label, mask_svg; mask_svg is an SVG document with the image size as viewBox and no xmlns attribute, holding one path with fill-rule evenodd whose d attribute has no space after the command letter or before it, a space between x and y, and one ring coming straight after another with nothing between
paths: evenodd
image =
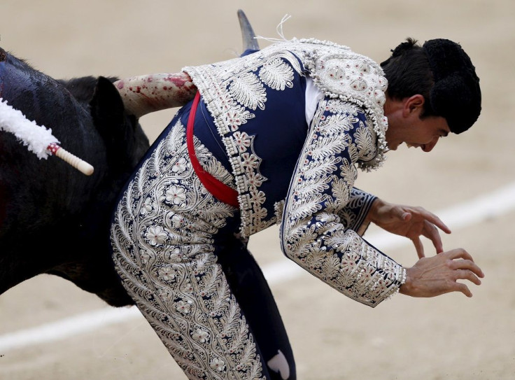
<instances>
[{"instance_id":1,"label":"man's black hair together with his black textured hat","mask_svg":"<svg viewBox=\"0 0 515 380\"><path fill-rule=\"evenodd\" d=\"M481 113L479 78L458 43L439 38L420 46L407 38L381 67L388 79L389 97L423 95L421 117L442 116L453 133L472 127Z\"/></svg>"}]
</instances>

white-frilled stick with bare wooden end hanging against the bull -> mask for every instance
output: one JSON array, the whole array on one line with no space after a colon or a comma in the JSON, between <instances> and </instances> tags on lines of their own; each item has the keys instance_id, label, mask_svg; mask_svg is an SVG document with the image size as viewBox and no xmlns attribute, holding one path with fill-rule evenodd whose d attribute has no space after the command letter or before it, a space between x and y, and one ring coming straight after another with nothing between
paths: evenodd
<instances>
[{"instance_id":1,"label":"white-frilled stick with bare wooden end hanging against the bull","mask_svg":"<svg viewBox=\"0 0 515 380\"><path fill-rule=\"evenodd\" d=\"M41 160L49 155L56 155L83 174L93 174L93 167L80 158L72 155L59 144L59 140L52 135L52 129L46 129L44 125L37 125L36 122L25 118L23 113L7 104L0 98L0 131L14 134L16 138L27 146Z\"/></svg>"}]
</instances>

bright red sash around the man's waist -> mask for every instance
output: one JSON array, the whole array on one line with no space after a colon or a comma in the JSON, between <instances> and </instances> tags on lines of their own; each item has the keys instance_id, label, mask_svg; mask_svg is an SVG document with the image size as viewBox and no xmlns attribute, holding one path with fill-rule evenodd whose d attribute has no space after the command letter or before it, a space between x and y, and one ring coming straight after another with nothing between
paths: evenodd
<instances>
[{"instance_id":1,"label":"bright red sash around the man's waist","mask_svg":"<svg viewBox=\"0 0 515 380\"><path fill-rule=\"evenodd\" d=\"M188 125L186 127L186 144L188 145L188 155L190 155L193 170L202 182L202 185L220 202L229 204L230 206L239 208L238 192L215 177L211 176L207 171L202 168L197 155L195 154L195 146L193 145L193 126L195 124L195 114L197 113L197 106L200 101L200 93L197 91L195 99L190 110L190 117L188 118Z\"/></svg>"}]
</instances>

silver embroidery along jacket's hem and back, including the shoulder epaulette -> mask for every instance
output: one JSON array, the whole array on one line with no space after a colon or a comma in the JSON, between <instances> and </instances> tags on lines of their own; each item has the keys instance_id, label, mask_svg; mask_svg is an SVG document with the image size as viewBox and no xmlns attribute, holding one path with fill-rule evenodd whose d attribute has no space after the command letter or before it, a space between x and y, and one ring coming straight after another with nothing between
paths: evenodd
<instances>
[{"instance_id":1,"label":"silver embroidery along jacket's hem and back, including the shoulder epaulette","mask_svg":"<svg viewBox=\"0 0 515 380\"><path fill-rule=\"evenodd\" d=\"M363 131L357 132L360 134L356 137L358 141L349 149L353 158L359 150L358 165L370 170L379 167L386 150L387 120L382 105L387 82L379 65L371 59L327 41L293 39L274 43L247 55L242 62L243 59L231 59L218 64L185 67L183 71L190 74L199 88L218 132L223 136L239 193L241 234L248 237L277 220L277 213L263 206L266 194L260 186L267 178L260 173L261 158L255 154L252 136L239 130L247 120L255 118L256 110L266 108L267 92L291 88L294 73L304 75L308 69L315 84L331 99L326 107L333 111L332 115L327 120L325 116L316 120L320 128L345 128L358 110L365 111L367 123L362 123ZM329 145L325 151L317 150L320 157L330 160L332 152L341 150L348 143L345 139L337 141L340 138L341 134L323 136L318 146ZM325 168L312 167L313 176L320 170L331 169L330 165L327 162Z\"/></svg>"}]
</instances>

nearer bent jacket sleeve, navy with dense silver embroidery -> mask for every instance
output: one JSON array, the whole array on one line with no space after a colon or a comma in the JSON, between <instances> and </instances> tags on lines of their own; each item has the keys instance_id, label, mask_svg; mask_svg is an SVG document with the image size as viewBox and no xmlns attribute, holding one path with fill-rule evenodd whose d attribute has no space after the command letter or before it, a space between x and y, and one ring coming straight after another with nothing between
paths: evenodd
<instances>
[{"instance_id":1,"label":"nearer bent jacket sleeve, navy with dense silver embroidery","mask_svg":"<svg viewBox=\"0 0 515 380\"><path fill-rule=\"evenodd\" d=\"M367 130L357 106L320 101L288 190L281 246L314 276L375 307L397 292L405 269L352 230L360 220L353 202L364 197L353 190L355 165L374 150Z\"/></svg>"}]
</instances>

